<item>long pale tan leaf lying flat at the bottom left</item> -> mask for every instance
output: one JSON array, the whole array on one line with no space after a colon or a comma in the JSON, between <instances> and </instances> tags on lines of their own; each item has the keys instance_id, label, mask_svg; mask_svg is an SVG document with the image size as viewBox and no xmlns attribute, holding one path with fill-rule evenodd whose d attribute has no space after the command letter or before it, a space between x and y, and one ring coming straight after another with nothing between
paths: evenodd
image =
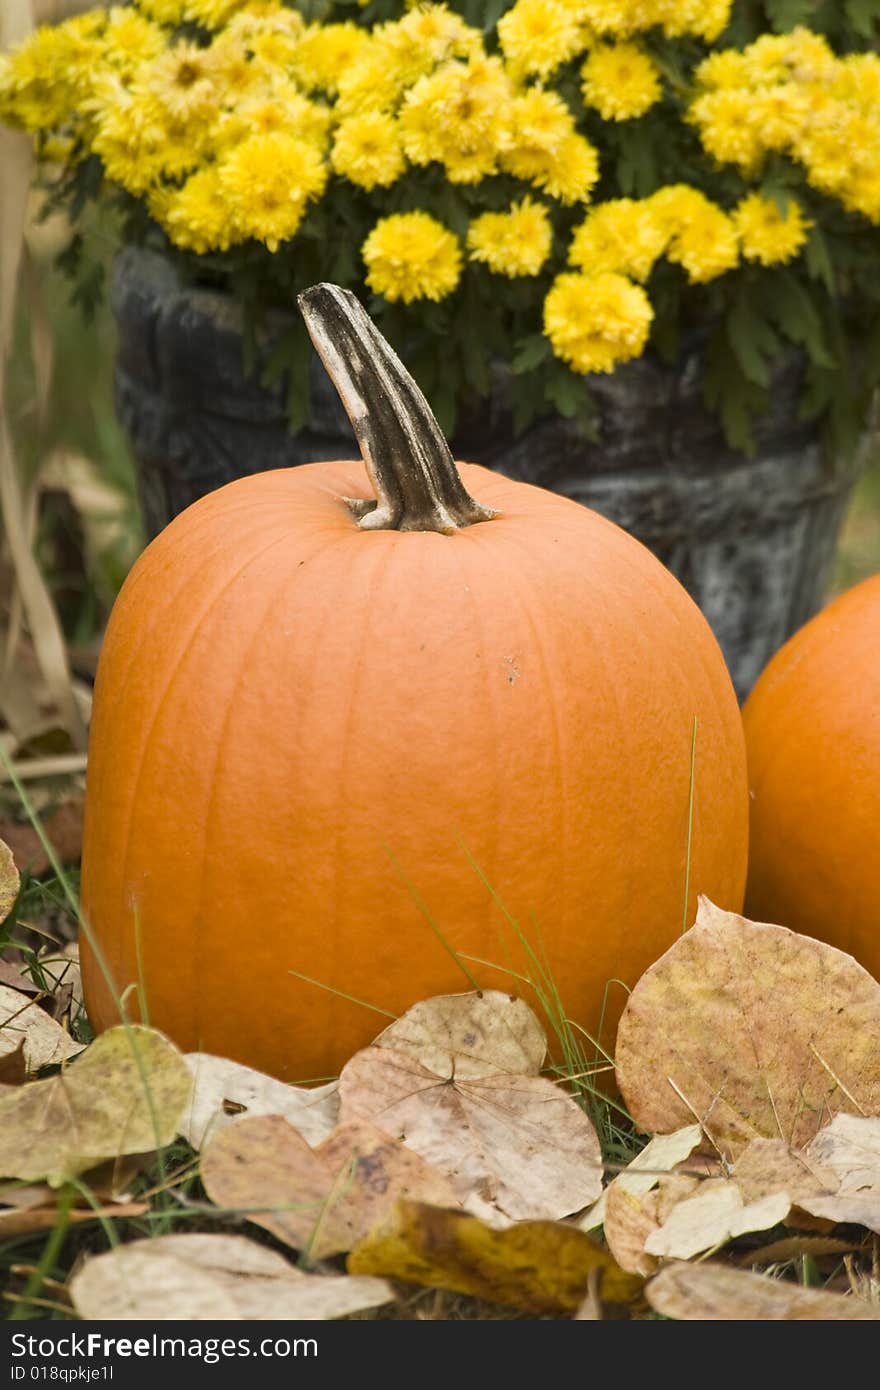
<instances>
[{"instance_id":1,"label":"long pale tan leaf lying flat at the bottom left","mask_svg":"<svg viewBox=\"0 0 880 1390\"><path fill-rule=\"evenodd\" d=\"M71 1297L90 1320L342 1318L393 1301L382 1279L307 1275L243 1236L158 1236L96 1255Z\"/></svg>"}]
</instances>

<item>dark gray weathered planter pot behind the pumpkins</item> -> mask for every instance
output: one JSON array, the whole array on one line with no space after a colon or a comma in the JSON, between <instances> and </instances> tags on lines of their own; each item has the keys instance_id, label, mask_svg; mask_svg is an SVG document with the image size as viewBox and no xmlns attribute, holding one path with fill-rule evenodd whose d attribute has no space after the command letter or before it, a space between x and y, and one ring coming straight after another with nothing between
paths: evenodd
<instances>
[{"instance_id":1,"label":"dark gray weathered planter pot behind the pumpkins","mask_svg":"<svg viewBox=\"0 0 880 1390\"><path fill-rule=\"evenodd\" d=\"M309 425L286 428L284 392L242 370L239 318L211 289L182 288L170 263L117 259L117 409L139 468L147 534L204 492L266 468L356 455L317 357ZM797 421L799 361L777 374L753 459L726 445L701 400L696 354L677 370L646 357L594 377L601 442L553 417L514 439L505 382L452 441L457 459L582 502L638 537L706 614L740 698L820 606L858 474L829 466Z\"/></svg>"}]
</instances>

